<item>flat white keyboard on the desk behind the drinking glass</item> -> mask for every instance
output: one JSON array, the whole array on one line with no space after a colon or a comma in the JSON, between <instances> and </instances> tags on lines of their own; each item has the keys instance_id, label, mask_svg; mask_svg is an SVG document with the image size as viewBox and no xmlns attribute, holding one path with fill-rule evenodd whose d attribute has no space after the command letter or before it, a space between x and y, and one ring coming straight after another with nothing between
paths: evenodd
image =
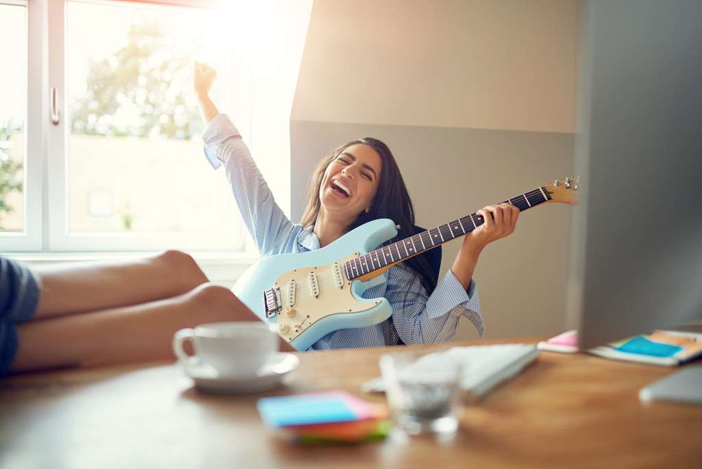
<instances>
[{"instance_id":1,"label":"flat white keyboard on the desk behind the drinking glass","mask_svg":"<svg viewBox=\"0 0 702 469\"><path fill-rule=\"evenodd\" d=\"M461 389L469 402L480 399L499 383L519 374L538 355L536 345L524 343L452 347L428 354L436 360L437 366L446 360L463 360L467 364L465 376L461 379ZM383 392L383 378L366 381L361 390Z\"/></svg>"}]
</instances>

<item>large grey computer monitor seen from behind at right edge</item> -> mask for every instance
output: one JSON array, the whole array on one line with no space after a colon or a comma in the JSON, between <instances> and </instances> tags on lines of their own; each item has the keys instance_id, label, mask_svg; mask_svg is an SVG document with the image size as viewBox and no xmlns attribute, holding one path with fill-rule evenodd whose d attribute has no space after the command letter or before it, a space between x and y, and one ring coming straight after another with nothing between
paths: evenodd
<instances>
[{"instance_id":1,"label":"large grey computer monitor seen from behind at right edge","mask_svg":"<svg viewBox=\"0 0 702 469\"><path fill-rule=\"evenodd\" d=\"M581 7L568 322L588 349L702 319L702 1Z\"/></svg>"}]
</instances>

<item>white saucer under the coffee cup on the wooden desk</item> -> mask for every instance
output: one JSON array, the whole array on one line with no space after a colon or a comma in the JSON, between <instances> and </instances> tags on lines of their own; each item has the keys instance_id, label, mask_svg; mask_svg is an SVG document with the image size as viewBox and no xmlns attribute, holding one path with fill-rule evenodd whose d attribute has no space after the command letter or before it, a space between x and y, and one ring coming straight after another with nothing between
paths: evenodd
<instances>
[{"instance_id":1,"label":"white saucer under the coffee cup on the wooden desk","mask_svg":"<svg viewBox=\"0 0 702 469\"><path fill-rule=\"evenodd\" d=\"M300 359L296 355L279 352L254 375L220 376L218 371L208 364L193 366L178 360L180 368L195 381L199 390L220 394L243 394L277 388L283 376L296 369L299 364Z\"/></svg>"}]
</instances>

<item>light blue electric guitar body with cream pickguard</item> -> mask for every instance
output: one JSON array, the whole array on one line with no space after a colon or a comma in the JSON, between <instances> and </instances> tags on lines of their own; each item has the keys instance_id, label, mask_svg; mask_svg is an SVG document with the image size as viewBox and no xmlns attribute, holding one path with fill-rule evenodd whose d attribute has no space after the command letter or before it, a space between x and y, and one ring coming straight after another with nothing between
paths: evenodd
<instances>
[{"instance_id":1,"label":"light blue electric guitar body with cream pickguard","mask_svg":"<svg viewBox=\"0 0 702 469\"><path fill-rule=\"evenodd\" d=\"M392 220L373 220L322 249L259 260L244 272L232 291L294 348L307 350L327 333L379 324L392 315L385 298L362 298L371 286L384 282L385 275L361 282L349 280L340 269L339 282L334 265L369 253L396 235ZM316 277L316 289L310 286L310 274ZM292 297L291 280L295 282ZM280 289L281 311L269 315L263 292L273 288Z\"/></svg>"}]
</instances>

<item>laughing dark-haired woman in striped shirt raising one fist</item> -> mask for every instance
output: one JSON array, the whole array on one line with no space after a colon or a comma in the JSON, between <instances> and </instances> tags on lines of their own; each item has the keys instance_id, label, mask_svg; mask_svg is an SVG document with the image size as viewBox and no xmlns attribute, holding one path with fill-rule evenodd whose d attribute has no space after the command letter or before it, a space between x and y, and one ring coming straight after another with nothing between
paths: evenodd
<instances>
[{"instance_id":1,"label":"laughing dark-haired woman in striped shirt raising one fist","mask_svg":"<svg viewBox=\"0 0 702 469\"><path fill-rule=\"evenodd\" d=\"M194 90L206 124L205 154L215 168L225 166L261 257L322 248L376 218L390 218L401 225L402 238L413 234L412 204L395 159L384 143L373 138L347 143L320 161L312 175L303 220L292 223L275 204L237 128L211 100L209 91L216 75L212 67L195 62ZM487 244L514 232L519 210L500 204L477 213L486 223L465 236L451 270L438 285L420 256L390 267L386 281L364 296L388 298L392 317L376 326L334 331L312 349L396 345L399 341L441 343L456 333L461 316L475 324L482 336L473 271Z\"/></svg>"}]
</instances>

